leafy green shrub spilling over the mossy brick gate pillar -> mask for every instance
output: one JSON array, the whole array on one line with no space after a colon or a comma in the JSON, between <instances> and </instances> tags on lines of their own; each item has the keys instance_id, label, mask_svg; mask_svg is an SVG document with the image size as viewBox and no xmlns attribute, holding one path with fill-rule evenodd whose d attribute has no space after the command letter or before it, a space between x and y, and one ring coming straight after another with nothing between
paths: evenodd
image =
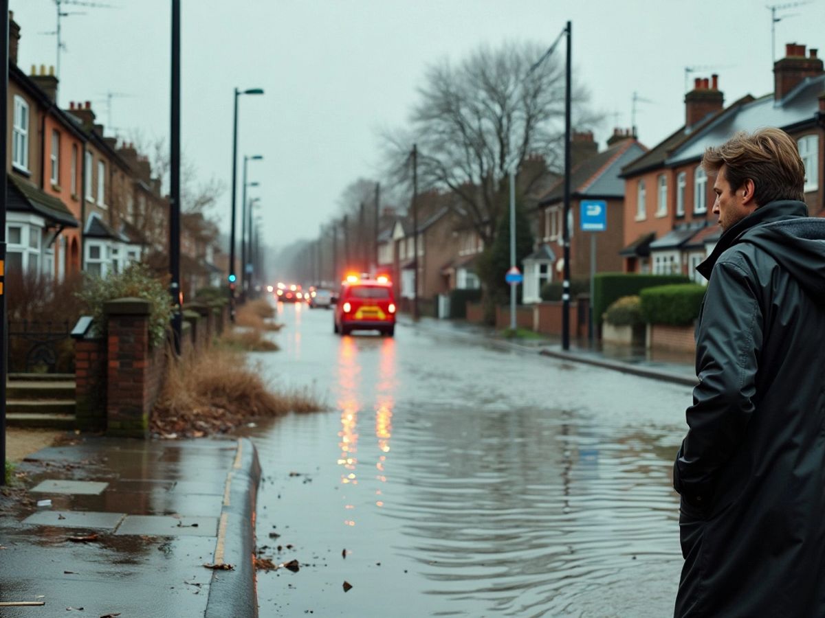
<instances>
[{"instance_id":1,"label":"leafy green shrub spilling over the mossy brick gate pillar","mask_svg":"<svg viewBox=\"0 0 825 618\"><path fill-rule=\"evenodd\" d=\"M106 332L106 315L103 305L117 298L143 298L149 302L149 345L153 348L166 339L172 306L166 285L155 279L148 266L133 262L122 273L106 278L87 274L78 297L92 316L97 332Z\"/></svg>"}]
</instances>

